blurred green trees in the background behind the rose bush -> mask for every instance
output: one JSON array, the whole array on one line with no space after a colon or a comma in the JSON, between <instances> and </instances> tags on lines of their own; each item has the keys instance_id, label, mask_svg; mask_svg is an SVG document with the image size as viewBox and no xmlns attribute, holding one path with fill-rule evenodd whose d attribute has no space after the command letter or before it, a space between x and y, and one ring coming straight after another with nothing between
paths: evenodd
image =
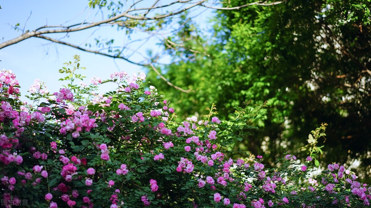
<instances>
[{"instance_id":1,"label":"blurred green trees in the background behind the rose bush","mask_svg":"<svg viewBox=\"0 0 371 208\"><path fill-rule=\"evenodd\" d=\"M270 165L285 151L306 157L300 147L309 132L327 123L322 165L359 161L360 176L370 182L370 7L370 0L288 0L219 10L207 32L184 17L161 45L172 63L155 66L192 91L169 87L150 69L147 79L182 118L207 114L215 103L227 119L235 105L267 101L265 118L253 124L259 130L236 145L236 157L264 155Z\"/></svg>"}]
</instances>

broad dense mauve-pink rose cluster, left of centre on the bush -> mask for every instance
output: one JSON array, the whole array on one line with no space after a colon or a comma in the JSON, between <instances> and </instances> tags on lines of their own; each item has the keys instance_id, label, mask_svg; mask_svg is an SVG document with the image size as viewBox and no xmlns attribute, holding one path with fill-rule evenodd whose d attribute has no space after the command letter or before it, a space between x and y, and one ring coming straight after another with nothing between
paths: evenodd
<instances>
[{"instance_id":1,"label":"broad dense mauve-pink rose cluster, left of centre on the bush","mask_svg":"<svg viewBox=\"0 0 371 208\"><path fill-rule=\"evenodd\" d=\"M92 128L97 127L95 123L95 118L90 118L91 112L83 111L85 107L79 107L79 111L76 111L70 118L63 121L60 124L59 132L61 134L67 134L67 132L72 132L73 138L78 138L82 130L90 131ZM82 112L81 112L82 111Z\"/></svg>"}]
</instances>

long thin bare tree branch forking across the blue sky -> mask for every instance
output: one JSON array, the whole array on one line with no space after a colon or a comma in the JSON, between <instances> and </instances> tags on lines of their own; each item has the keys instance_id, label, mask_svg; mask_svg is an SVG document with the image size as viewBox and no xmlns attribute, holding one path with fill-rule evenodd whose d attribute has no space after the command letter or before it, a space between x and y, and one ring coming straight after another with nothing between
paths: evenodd
<instances>
[{"instance_id":1,"label":"long thin bare tree branch forking across the blue sky","mask_svg":"<svg viewBox=\"0 0 371 208\"><path fill-rule=\"evenodd\" d=\"M149 3L146 4L146 5L149 5L149 6L152 5L151 7L142 7L142 8L138 8L138 9L135 8L137 5L139 5L139 3L142 4L143 3L142 1L144 1L144 0L136 0L131 5L125 6L126 9L125 9L124 12L121 12L121 13L118 12L118 14L113 13L110 18L106 18L106 19L102 18L101 21L94 21L94 19L93 19L93 20L90 20L90 22L87 22L87 20L89 18L89 15L90 15L90 13L89 13L88 17L86 17L85 20L83 20L79 23L72 24L70 26L63 26L64 24L69 22L70 21L69 20L69 21L63 23L62 25L48 26L46 24L45 26L38 27L35 30L32 30L30 32L24 32L23 31L22 35L20 35L16 38L13 38L11 40L7 40L3 43L0 43L0 49L5 48L7 46L11 46L11 45L16 44L16 43L19 43L19 42L21 42L23 40L26 40L28 38L31 38L31 37L42 38L42 39L51 41L53 43L63 44L63 45L70 46L70 47L76 48L78 50L86 51L86 52L89 52L89 53L100 54L102 56L107 56L107 57L111 57L111 58L119 58L119 59L128 61L129 63L136 64L136 65L139 65L139 66L145 66L145 67L149 66L168 85L170 85L170 86L172 86L172 87L176 88L177 90L180 90L184 93L189 93L191 91L191 89L184 90L183 88L180 88L180 87L175 86L172 83L170 83L154 67L154 65L151 63L150 60L144 59L145 61L148 61L148 63L143 64L142 61L141 62L134 62L134 61L130 60L130 58L129 58L130 56L122 55L124 53L124 51L131 50L126 45L120 47L120 48L122 48L122 50L118 51L117 53L114 54L114 52L112 52L112 50L111 50L111 48L114 48L114 47L111 47L111 45L109 44L108 52L104 53L104 52L102 52L102 50L99 50L99 49L90 50L90 49L87 49L87 48L80 47L76 44L72 44L72 43L62 41L61 38L59 38L59 40L58 40L58 39L55 39L55 38L47 37L45 35L46 34L63 33L67 36L69 33L72 33L72 32L83 31L83 30L87 30L89 28L96 28L96 27L106 26L106 25L113 26L113 25L116 25L116 24L118 25L119 28L122 27L122 28L127 28L127 29L130 29L130 28L135 29L132 25L135 24L135 25L139 25L139 27L140 27L142 25L142 23L140 21L144 21L144 20L154 20L154 21L156 21L156 20L160 20L160 19L167 19L167 18L170 18L170 17L174 17L178 14L184 13L187 10L191 10L191 9L197 7L197 6L198 7L200 7L200 6L207 7L207 8L210 8L210 9L233 10L233 9L240 9L240 8L251 6L251 5L270 6L270 5L275 5L275 4L282 3L285 0L275 1L275 2L272 2L272 3L266 3L267 1L256 1L254 3L245 4L245 5L242 5L242 6L226 7L226 8L223 8L223 7L217 8L217 7L211 7L211 6L206 5L208 3L209 4L213 4L213 3L218 4L218 3L220 3L219 1L209 2L210 0L173 0L170 3L165 3L165 4L158 5L158 3L161 2L161 1L160 0L154 0L154 1L151 1L152 4L149 4ZM166 13L159 13L159 14L157 13L157 14L154 14L154 16L149 15L151 11L157 11L157 10L161 10L161 9L164 9L164 8L175 8L175 9L173 11L167 11ZM102 11L102 10L99 10L99 11ZM82 14L82 13L80 13L80 14ZM76 17L74 17L73 19L75 19ZM185 22L187 22L187 21L185 21ZM27 23L27 21L26 21L26 23ZM160 23L160 24L162 24L162 23ZM166 25L166 23L164 23L164 24ZM185 23L183 23L183 24L185 24ZM145 27L145 26L143 26L143 27ZM160 25L158 27L160 28L160 30L162 29L161 28L162 25ZM138 28L136 28L136 29L138 29ZM165 29L162 29L162 30L168 32L168 30L165 30ZM142 32L148 33L148 34L150 34L150 33L154 34L154 32L151 32L151 31L143 30ZM170 33L171 32L172 31L170 31ZM165 33L162 33L162 35L163 34L165 34ZM161 35L161 33L158 33L157 35ZM177 43L174 43L174 42L172 42L168 39L165 41L165 43L168 46L173 46L174 48L185 47L183 44L177 44ZM187 48L187 50L192 51L193 53L202 53L201 51L197 51L197 50L194 50L192 48ZM134 51L133 53L137 53L137 54L140 54L141 56L143 56L141 53L138 52L138 49L133 50L133 51ZM205 55L207 56L207 54L205 54ZM152 59L152 62L155 62L155 61L153 61L153 59Z\"/></svg>"}]
</instances>

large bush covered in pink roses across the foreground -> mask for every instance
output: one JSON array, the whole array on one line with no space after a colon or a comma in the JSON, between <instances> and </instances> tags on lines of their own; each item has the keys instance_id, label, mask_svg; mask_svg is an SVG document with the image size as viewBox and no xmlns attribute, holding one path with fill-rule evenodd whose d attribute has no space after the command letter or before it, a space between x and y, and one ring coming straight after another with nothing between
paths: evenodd
<instances>
[{"instance_id":1,"label":"large bush covered in pink roses across the foreground","mask_svg":"<svg viewBox=\"0 0 371 208\"><path fill-rule=\"evenodd\" d=\"M178 121L145 75L120 72L75 85L79 57L67 63L49 94L35 80L27 105L11 71L0 73L0 178L5 207L362 207L371 188L344 166L318 166L312 132L305 161L294 155L265 168L262 156L232 160L234 145L259 119L256 107L236 107L229 121L210 114ZM68 68L71 67L71 68ZM100 83L115 91L93 93ZM41 102L46 98L45 102ZM41 103L40 103L41 102ZM26 200L27 204L23 204Z\"/></svg>"}]
</instances>

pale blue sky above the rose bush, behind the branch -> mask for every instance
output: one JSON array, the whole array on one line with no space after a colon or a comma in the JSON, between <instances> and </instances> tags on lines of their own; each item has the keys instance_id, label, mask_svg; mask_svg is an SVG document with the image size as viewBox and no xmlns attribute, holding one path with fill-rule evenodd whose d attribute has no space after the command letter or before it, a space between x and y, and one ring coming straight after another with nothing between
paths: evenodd
<instances>
[{"instance_id":1,"label":"pale blue sky above the rose bush, behind the branch","mask_svg":"<svg viewBox=\"0 0 371 208\"><path fill-rule=\"evenodd\" d=\"M17 31L12 28L17 23L24 30L34 30L44 25L60 25L68 20L72 20L66 25L76 22L81 22L90 13L89 18L92 19L96 12L87 7L88 1L64 0L64 1L0 1L0 41L7 41L22 34L22 31ZM32 11L32 14L30 15ZM199 10L200 11L200 10ZM79 15L78 17L76 17ZM106 17L107 13L104 17ZM208 18L211 11L202 13L197 17L196 21L202 27L207 27ZM76 17L76 18L75 18ZM75 19L74 19L75 18ZM102 19L102 15L98 14L97 19ZM27 20L28 19L28 20ZM27 23L26 23L27 21ZM26 26L24 26L26 23ZM93 30L76 32L70 34L65 41L74 41L78 44L85 43ZM109 36L107 36L109 34ZM94 36L110 37L115 41L128 41L125 35L116 31L114 28L101 28L95 31ZM61 37L60 35L52 35L50 37ZM83 46L83 45L82 45ZM132 45L135 47L135 45ZM155 42L147 43L141 50L147 49L156 50ZM81 56L81 67L86 67L81 74L87 76L84 82L89 83L92 76L100 77L102 80L109 78L109 74L115 71L126 71L128 74L144 71L140 66L130 64L124 60L116 60L112 58L84 52L63 46L61 44L50 43L40 38L29 38L20 43L13 44L0 50L0 70L12 70L19 80L21 85L21 93L24 95L33 81L37 78L44 81L50 92L58 91L62 87L62 82L57 81L61 77L58 70L63 67L63 63L72 61L73 55ZM139 60L141 57L134 57ZM109 85L101 85L101 91L110 90ZM24 99L24 97L22 97Z\"/></svg>"}]
</instances>

